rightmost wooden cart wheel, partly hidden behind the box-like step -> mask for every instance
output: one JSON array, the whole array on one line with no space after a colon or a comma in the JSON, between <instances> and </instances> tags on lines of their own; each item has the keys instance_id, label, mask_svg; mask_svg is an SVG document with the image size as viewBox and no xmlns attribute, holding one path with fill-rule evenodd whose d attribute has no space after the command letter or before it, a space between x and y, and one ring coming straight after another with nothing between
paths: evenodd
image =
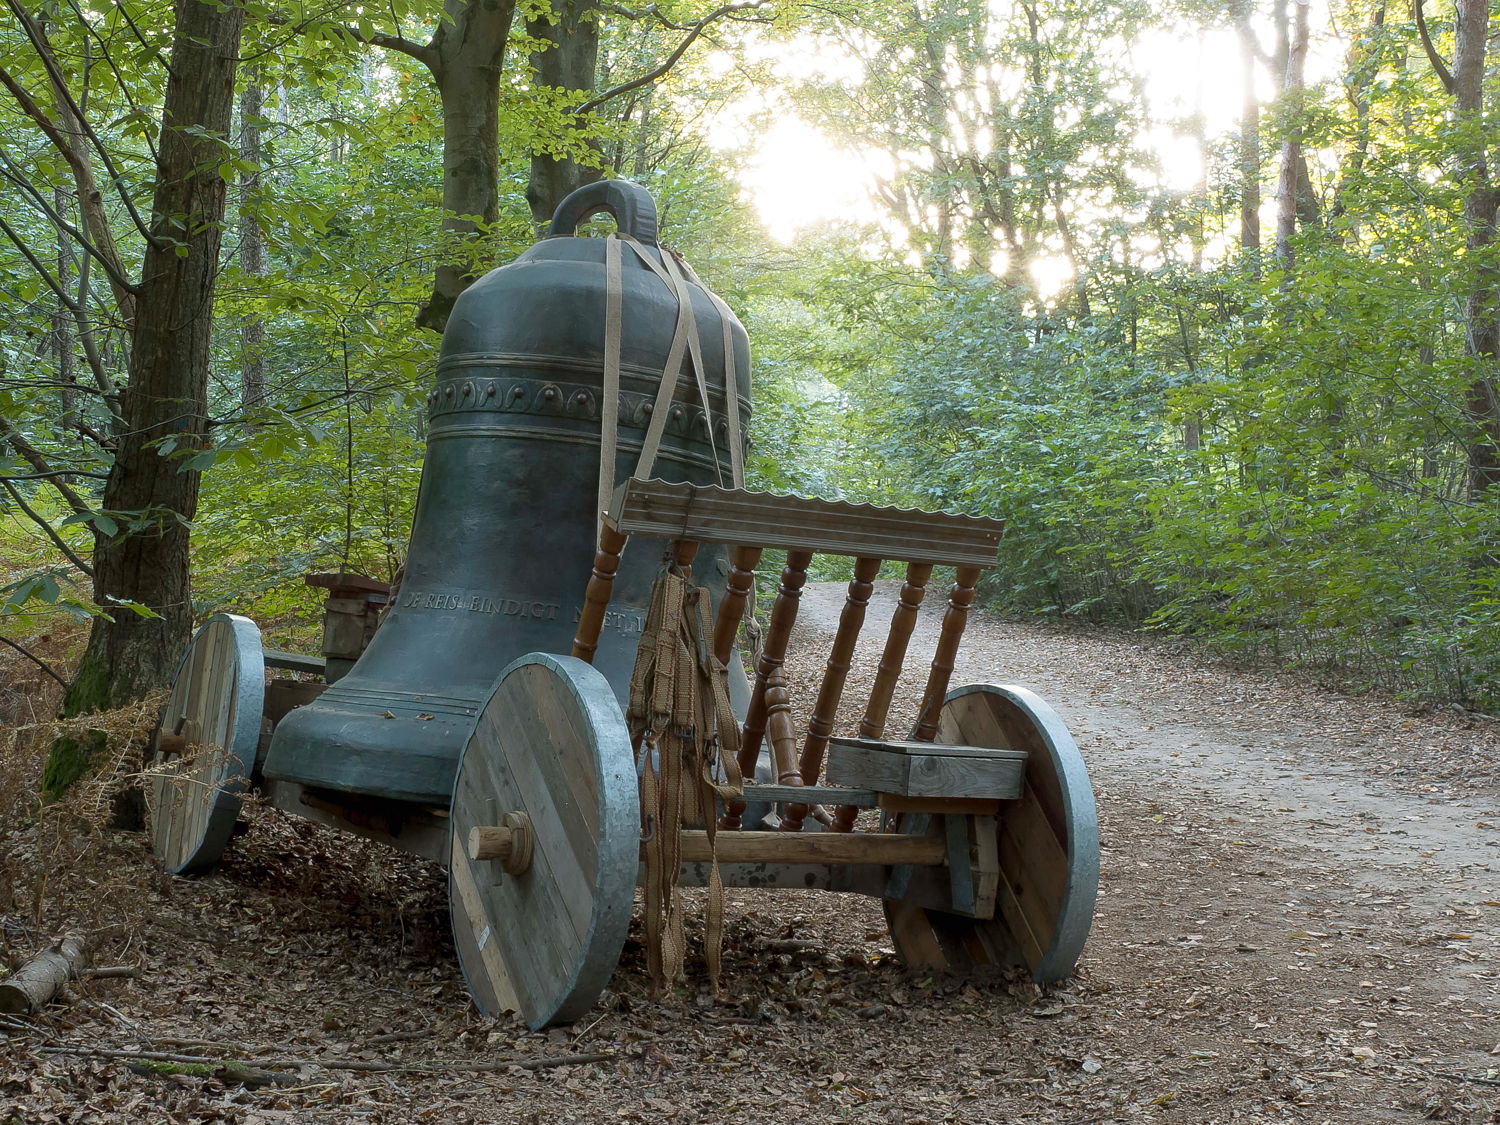
<instances>
[{"instance_id":1,"label":"rightmost wooden cart wheel, partly hidden behind the box-like step","mask_svg":"<svg viewBox=\"0 0 1500 1125\"><path fill-rule=\"evenodd\" d=\"M939 742L1026 750L1024 792L998 818L994 918L885 902L912 968L968 972L1023 964L1046 984L1071 975L1094 920L1100 826L1083 758L1058 712L1024 687L970 684L944 699Z\"/></svg>"}]
</instances>

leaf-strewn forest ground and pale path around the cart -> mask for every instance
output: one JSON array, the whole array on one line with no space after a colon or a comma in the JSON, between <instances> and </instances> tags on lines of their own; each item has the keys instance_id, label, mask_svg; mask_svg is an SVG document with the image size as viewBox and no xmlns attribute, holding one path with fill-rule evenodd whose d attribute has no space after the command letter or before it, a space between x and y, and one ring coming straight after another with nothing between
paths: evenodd
<instances>
[{"instance_id":1,"label":"leaf-strewn forest ground and pale path around the cart","mask_svg":"<svg viewBox=\"0 0 1500 1125\"><path fill-rule=\"evenodd\" d=\"M842 598L808 588L794 682ZM254 810L218 874L172 879L140 834L0 820L0 950L114 926L99 960L140 966L0 1020L0 1124L1500 1122L1500 723L1132 634L976 615L964 650L954 682L1041 693L1094 778L1102 884L1062 987L909 975L876 902L730 891L722 1002L650 1000L633 936L596 1010L536 1035L468 1008L429 864ZM142 1050L304 1065L252 1089L110 1054ZM606 1058L519 1068L580 1053Z\"/></svg>"}]
</instances>

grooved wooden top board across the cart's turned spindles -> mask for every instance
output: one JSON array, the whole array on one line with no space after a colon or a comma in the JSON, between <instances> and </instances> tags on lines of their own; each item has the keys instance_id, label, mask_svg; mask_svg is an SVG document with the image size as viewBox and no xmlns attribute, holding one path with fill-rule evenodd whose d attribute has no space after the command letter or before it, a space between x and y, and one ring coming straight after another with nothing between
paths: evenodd
<instances>
[{"instance_id":1,"label":"grooved wooden top board across the cart's turned spindles","mask_svg":"<svg viewBox=\"0 0 1500 1125\"><path fill-rule=\"evenodd\" d=\"M993 567L1005 531L980 516L636 477L615 490L606 524L658 538L969 567Z\"/></svg>"}]
</instances>

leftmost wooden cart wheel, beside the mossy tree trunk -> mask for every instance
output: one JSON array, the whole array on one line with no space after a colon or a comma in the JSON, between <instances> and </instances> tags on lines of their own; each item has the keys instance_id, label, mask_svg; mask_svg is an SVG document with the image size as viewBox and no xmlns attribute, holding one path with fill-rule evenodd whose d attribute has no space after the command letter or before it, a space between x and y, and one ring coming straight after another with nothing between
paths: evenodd
<instances>
[{"instance_id":1,"label":"leftmost wooden cart wheel, beside the mossy tree trunk","mask_svg":"<svg viewBox=\"0 0 1500 1125\"><path fill-rule=\"evenodd\" d=\"M261 735L266 666L249 618L216 614L194 636L147 753L152 849L172 874L219 862Z\"/></svg>"}]
</instances>

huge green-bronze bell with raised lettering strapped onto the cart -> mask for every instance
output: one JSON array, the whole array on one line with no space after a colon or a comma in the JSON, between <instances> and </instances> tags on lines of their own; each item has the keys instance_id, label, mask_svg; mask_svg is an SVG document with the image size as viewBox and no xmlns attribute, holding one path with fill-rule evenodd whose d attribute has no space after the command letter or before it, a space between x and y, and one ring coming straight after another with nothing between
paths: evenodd
<instances>
[{"instance_id":1,"label":"huge green-bronze bell with raised lettering strapped onto the cart","mask_svg":"<svg viewBox=\"0 0 1500 1125\"><path fill-rule=\"evenodd\" d=\"M573 237L598 212L612 213L620 236L628 237ZM640 468L675 351L684 362L666 375L675 387L648 476L740 483L740 456L729 448L735 428L724 357L728 351L734 358L734 440L742 441L750 345L734 314L692 270L668 258L657 246L651 194L621 180L594 183L562 201L548 238L459 297L428 396L428 448L405 579L352 670L276 728L266 777L448 804L459 752L501 669L530 651L570 650L594 558L602 486ZM690 304L681 321L678 292ZM614 472L602 480L610 308L621 314L612 394L618 408ZM682 348L682 326L696 327L694 346ZM626 552L594 657L621 705L666 544L656 548L633 542ZM723 567L722 555L705 550L694 570ZM738 680L742 690L742 675Z\"/></svg>"}]
</instances>

